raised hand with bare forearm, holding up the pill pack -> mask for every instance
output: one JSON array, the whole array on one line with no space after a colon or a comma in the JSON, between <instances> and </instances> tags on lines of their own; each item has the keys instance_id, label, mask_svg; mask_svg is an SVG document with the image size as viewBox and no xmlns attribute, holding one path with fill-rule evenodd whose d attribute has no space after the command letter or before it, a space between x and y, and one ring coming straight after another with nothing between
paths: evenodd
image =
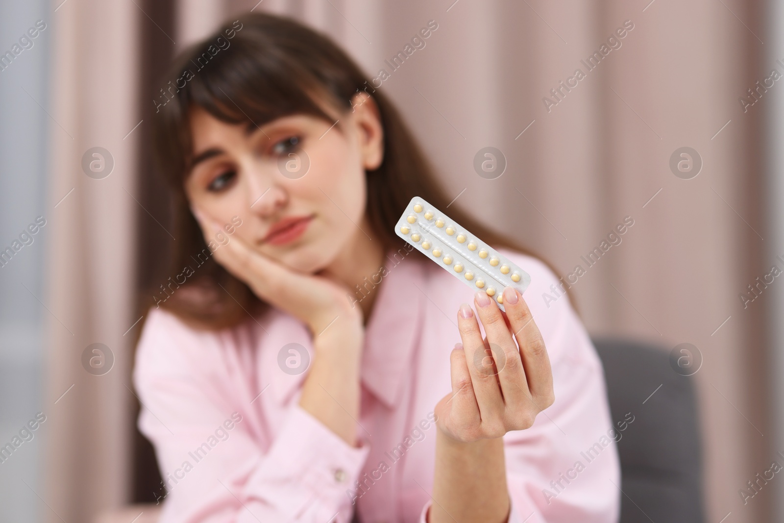
<instances>
[{"instance_id":1,"label":"raised hand with bare forearm, holding up the pill pack","mask_svg":"<svg viewBox=\"0 0 784 523\"><path fill-rule=\"evenodd\" d=\"M458 328L463 347L452 350L452 394L436 405L436 466L428 521L507 521L503 435L531 427L553 404L553 374L542 335L520 293L503 290L501 311L485 292L474 311L463 303ZM519 348L518 348L519 346Z\"/></svg>"}]
</instances>

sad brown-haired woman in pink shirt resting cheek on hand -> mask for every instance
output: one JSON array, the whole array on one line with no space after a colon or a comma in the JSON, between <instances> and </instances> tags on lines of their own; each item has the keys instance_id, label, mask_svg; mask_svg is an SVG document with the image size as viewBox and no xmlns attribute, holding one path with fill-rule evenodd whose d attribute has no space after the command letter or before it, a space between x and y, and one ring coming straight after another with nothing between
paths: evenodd
<instances>
[{"instance_id":1,"label":"sad brown-haired woman in pink shirt resting cheek on hand","mask_svg":"<svg viewBox=\"0 0 784 523\"><path fill-rule=\"evenodd\" d=\"M509 287L506 314L485 292L472 308L397 238L414 195L448 201L345 53L255 14L166 78L176 276L134 371L161 521L616 520L600 362L567 299L533 299L557 278L452 206L532 278L529 303Z\"/></svg>"}]
</instances>

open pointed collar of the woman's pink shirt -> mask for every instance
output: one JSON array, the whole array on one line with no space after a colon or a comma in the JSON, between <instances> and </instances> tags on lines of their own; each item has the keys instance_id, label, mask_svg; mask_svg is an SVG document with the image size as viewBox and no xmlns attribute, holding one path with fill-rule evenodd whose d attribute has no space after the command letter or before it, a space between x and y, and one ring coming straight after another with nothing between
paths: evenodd
<instances>
[{"instance_id":1,"label":"open pointed collar of the woman's pink shirt","mask_svg":"<svg viewBox=\"0 0 784 523\"><path fill-rule=\"evenodd\" d=\"M390 250L383 267L368 276L370 289L380 285L373 311L365 324L365 347L361 362L361 380L387 407L397 405L405 373L412 369L412 351L419 336L425 309L425 267L412 251ZM355 299L361 298L358 292ZM355 306L359 307L358 302ZM270 322L270 347L282 347L280 342L296 342L307 347L313 361L313 344L305 326L289 314L275 311L283 318ZM275 315L278 315L275 314ZM282 320L282 321L281 321ZM277 328L276 328L277 327ZM267 336L264 336L267 337ZM284 344L285 344L284 343ZM278 369L278 350L267 352L266 365L274 365L271 388L278 403L285 402L301 386L307 372L289 375ZM268 375L269 376L269 375Z\"/></svg>"}]
</instances>

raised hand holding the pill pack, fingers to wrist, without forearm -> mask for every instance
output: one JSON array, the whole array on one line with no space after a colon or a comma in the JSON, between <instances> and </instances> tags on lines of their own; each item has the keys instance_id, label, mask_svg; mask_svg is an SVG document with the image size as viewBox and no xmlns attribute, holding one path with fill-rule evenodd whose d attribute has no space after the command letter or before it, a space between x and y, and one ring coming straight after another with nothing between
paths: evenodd
<instances>
[{"instance_id":1,"label":"raised hand holding the pill pack, fingers to wrist, without forearm","mask_svg":"<svg viewBox=\"0 0 784 523\"><path fill-rule=\"evenodd\" d=\"M550 358L528 305L513 287L504 289L503 305L506 314L485 292L474 296L485 340L474 311L467 303L460 307L463 347L452 350L450 358L452 394L435 409L437 427L455 441L501 438L510 430L527 429L553 404Z\"/></svg>"}]
</instances>

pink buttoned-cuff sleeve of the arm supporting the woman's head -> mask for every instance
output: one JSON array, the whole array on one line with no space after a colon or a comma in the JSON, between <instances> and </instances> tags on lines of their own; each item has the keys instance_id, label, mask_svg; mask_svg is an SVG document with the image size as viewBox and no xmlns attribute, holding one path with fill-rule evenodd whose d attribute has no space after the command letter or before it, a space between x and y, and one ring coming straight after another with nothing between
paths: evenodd
<instances>
[{"instance_id":1,"label":"pink buttoned-cuff sleeve of the arm supporting the woman's head","mask_svg":"<svg viewBox=\"0 0 784 523\"><path fill-rule=\"evenodd\" d=\"M254 423L215 376L219 345L158 310L143 329L133 377L166 487L160 523L350 521L368 442L348 445L296 401L282 423Z\"/></svg>"}]
</instances>

